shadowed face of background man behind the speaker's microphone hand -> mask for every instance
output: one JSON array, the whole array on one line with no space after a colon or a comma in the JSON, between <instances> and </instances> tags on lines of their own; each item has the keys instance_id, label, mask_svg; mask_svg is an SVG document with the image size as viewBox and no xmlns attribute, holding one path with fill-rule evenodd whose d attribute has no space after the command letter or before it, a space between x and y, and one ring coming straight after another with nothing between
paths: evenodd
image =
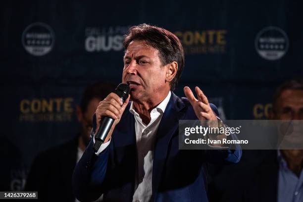
<instances>
[{"instance_id":1,"label":"shadowed face of background man behind the speaker's microphone hand","mask_svg":"<svg viewBox=\"0 0 303 202\"><path fill-rule=\"evenodd\" d=\"M92 122L93 122L93 115L96 112L96 109L99 105L100 100L94 98L88 103L87 110L82 113L82 118L79 119L81 124L81 137L83 143L87 146L90 140L90 135L92 131Z\"/></svg>"}]
</instances>

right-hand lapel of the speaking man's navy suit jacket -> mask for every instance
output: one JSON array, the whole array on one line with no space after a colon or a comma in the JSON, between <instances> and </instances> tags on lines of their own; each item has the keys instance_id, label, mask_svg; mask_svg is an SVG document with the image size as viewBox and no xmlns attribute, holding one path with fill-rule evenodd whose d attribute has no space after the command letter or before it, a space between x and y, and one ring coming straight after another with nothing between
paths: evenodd
<instances>
[{"instance_id":1,"label":"right-hand lapel of the speaking man's navy suit jacket","mask_svg":"<svg viewBox=\"0 0 303 202\"><path fill-rule=\"evenodd\" d=\"M169 141L178 129L179 119L182 119L182 115L184 116L184 114L180 112L184 107L185 104L180 100L180 98L172 93L156 134L152 168L152 193L154 197L161 180Z\"/></svg>"}]
</instances>

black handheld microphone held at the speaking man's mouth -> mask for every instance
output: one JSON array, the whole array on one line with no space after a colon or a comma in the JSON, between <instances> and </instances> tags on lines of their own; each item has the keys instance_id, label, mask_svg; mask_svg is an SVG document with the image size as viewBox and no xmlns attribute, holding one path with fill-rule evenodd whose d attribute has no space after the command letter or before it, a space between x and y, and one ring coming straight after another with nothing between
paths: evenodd
<instances>
[{"instance_id":1,"label":"black handheld microphone held at the speaking man's mouth","mask_svg":"<svg viewBox=\"0 0 303 202\"><path fill-rule=\"evenodd\" d=\"M122 99L123 103L128 98L129 92L130 92L129 86L127 84L123 84L123 83L119 84L114 91L114 93L117 94ZM95 141L96 141L95 145L94 145L95 152L98 152L98 150L99 150L100 146L102 145L102 143L104 142L113 122L114 122L114 119L112 119L108 116L102 117L99 130L98 130L97 134L95 135Z\"/></svg>"}]
</instances>

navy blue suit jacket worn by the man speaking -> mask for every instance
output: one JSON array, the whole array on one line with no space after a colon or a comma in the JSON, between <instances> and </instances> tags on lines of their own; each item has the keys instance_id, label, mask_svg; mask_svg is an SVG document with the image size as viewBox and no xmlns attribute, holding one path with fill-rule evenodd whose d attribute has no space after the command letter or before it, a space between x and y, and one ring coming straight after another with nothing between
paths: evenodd
<instances>
[{"instance_id":1,"label":"navy blue suit jacket worn by the man speaking","mask_svg":"<svg viewBox=\"0 0 303 202\"><path fill-rule=\"evenodd\" d=\"M80 201L131 202L135 187L135 118L125 109L109 146L97 156L91 140L73 173L73 190ZM216 107L211 104L215 113ZM179 120L197 120L186 98L172 93L156 134L153 153L152 197L156 202L207 202L205 162L238 162L241 149L179 150ZM96 123L94 123L96 127Z\"/></svg>"}]
</instances>

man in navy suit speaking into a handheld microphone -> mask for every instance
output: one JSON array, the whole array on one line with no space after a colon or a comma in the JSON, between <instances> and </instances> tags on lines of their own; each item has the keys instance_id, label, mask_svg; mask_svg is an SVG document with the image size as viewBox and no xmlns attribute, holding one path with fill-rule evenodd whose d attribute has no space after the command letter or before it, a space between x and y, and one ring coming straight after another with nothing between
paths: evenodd
<instances>
[{"instance_id":1,"label":"man in navy suit speaking into a handheld microphone","mask_svg":"<svg viewBox=\"0 0 303 202\"><path fill-rule=\"evenodd\" d=\"M218 122L218 113L198 87L198 99L189 87L184 88L187 99L172 92L184 67L184 51L174 34L147 24L134 26L124 48L122 82L131 88L132 102L122 103L115 94L100 102L93 135L102 117L115 121L99 151L93 149L93 138L76 165L76 197L206 202L203 163L238 162L241 150L179 150L179 120Z\"/></svg>"}]
</instances>

